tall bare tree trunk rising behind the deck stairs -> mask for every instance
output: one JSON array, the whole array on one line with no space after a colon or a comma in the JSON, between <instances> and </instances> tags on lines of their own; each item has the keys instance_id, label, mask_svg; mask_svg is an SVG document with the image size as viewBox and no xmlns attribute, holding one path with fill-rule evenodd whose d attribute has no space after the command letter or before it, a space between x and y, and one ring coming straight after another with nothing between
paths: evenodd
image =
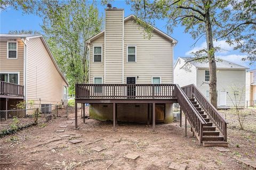
<instances>
[{"instance_id":1,"label":"tall bare tree trunk rising behind the deck stairs","mask_svg":"<svg viewBox=\"0 0 256 170\"><path fill-rule=\"evenodd\" d=\"M208 1L207 3L210 3ZM210 8L205 7L205 20L206 20L206 43L207 43L207 52L209 58L209 70L210 70L210 101L211 104L217 108L217 73L216 73L216 62L214 56L214 46L213 46L213 37L212 37L212 23L210 18Z\"/></svg>"}]
</instances>

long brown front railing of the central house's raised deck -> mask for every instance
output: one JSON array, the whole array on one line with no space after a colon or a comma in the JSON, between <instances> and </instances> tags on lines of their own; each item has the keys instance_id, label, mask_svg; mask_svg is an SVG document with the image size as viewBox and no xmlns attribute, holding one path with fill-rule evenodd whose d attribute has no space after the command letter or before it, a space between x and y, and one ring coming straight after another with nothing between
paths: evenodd
<instances>
[{"instance_id":1,"label":"long brown front railing of the central house's raised deck","mask_svg":"<svg viewBox=\"0 0 256 170\"><path fill-rule=\"evenodd\" d=\"M76 84L76 99L170 99L175 84Z\"/></svg>"}]
</instances>

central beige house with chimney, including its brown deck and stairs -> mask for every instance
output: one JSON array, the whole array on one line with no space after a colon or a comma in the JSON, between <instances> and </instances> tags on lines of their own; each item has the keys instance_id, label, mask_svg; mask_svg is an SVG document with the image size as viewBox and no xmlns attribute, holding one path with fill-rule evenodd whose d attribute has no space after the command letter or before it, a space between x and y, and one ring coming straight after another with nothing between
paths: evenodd
<instances>
[{"instance_id":1,"label":"central beige house with chimney, including its brown deck and stairs","mask_svg":"<svg viewBox=\"0 0 256 170\"><path fill-rule=\"evenodd\" d=\"M86 41L90 48L90 77L88 84L75 86L75 128L78 104L90 104L90 117L113 120L114 129L117 121L152 122L154 131L156 122L173 121L172 107L179 103L200 143L227 146L227 123L221 114L204 96L189 96L187 89L173 82L173 48L177 40L152 28L152 37L145 38L136 16L124 18L123 9L108 4L105 30ZM196 97L204 106L199 106ZM203 107L213 117L208 117Z\"/></svg>"}]
</instances>

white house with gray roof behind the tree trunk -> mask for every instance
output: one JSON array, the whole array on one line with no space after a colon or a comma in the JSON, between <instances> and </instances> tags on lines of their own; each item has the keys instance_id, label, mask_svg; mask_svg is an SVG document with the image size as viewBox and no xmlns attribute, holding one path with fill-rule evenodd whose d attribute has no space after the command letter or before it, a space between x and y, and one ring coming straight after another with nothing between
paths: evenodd
<instances>
[{"instance_id":1,"label":"white house with gray roof behind the tree trunk","mask_svg":"<svg viewBox=\"0 0 256 170\"><path fill-rule=\"evenodd\" d=\"M209 63L188 62L191 60L191 57L178 58L174 65L174 83L180 87L193 83L209 99ZM216 65L218 108L230 108L236 102L244 107L245 74L248 68L226 60L216 62Z\"/></svg>"}]
</instances>

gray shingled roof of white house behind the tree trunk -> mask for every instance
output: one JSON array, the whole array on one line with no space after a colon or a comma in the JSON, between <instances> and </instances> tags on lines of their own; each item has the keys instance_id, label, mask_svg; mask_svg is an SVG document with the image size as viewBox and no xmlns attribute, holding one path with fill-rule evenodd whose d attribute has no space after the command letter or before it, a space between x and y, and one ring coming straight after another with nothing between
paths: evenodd
<instances>
[{"instance_id":1,"label":"gray shingled roof of white house behind the tree trunk","mask_svg":"<svg viewBox=\"0 0 256 170\"><path fill-rule=\"evenodd\" d=\"M193 60L193 57L179 57L179 58L181 58L182 60L185 60L185 61ZM192 62L189 62L189 63L198 67L198 68L208 68L209 67L208 62L200 63L200 62L192 61ZM216 66L219 69L221 69L221 68L222 69L249 69L245 66L235 64L235 63L223 60L223 59L221 59L220 61L217 61Z\"/></svg>"}]
</instances>

